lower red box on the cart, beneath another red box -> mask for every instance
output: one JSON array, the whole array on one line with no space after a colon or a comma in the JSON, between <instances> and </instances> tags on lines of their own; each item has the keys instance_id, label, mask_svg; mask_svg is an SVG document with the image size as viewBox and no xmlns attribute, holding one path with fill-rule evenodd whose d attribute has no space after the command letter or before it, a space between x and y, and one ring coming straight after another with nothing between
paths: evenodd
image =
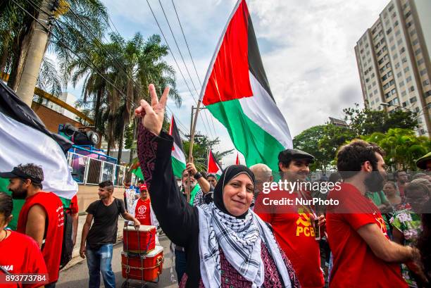
<instances>
[{"instance_id":1,"label":"lower red box on the cart, beneath another red box","mask_svg":"<svg viewBox=\"0 0 431 288\"><path fill-rule=\"evenodd\" d=\"M163 247L146 254L121 252L121 274L123 278L154 281L163 270Z\"/></svg>"}]
</instances>

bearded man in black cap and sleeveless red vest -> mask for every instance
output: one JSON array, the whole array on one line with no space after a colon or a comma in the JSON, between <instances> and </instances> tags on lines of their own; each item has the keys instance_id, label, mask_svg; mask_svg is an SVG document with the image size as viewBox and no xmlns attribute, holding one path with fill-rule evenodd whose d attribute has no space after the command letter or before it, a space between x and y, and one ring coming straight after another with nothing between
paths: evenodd
<instances>
[{"instance_id":1,"label":"bearded man in black cap and sleeveless red vest","mask_svg":"<svg viewBox=\"0 0 431 288\"><path fill-rule=\"evenodd\" d=\"M16 231L27 234L39 244L49 275L49 284L56 287L63 243L63 204L52 192L42 191L44 171L35 164L18 165L11 172L0 173L9 178L8 189L13 199L25 199L18 216Z\"/></svg>"}]
</instances>

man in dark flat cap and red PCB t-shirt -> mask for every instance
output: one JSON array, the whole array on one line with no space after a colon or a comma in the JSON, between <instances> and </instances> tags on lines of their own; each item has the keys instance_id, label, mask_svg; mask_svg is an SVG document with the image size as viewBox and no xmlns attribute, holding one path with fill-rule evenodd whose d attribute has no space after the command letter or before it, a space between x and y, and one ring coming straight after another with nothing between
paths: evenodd
<instances>
[{"instance_id":1,"label":"man in dark flat cap and red PCB t-shirt","mask_svg":"<svg viewBox=\"0 0 431 288\"><path fill-rule=\"evenodd\" d=\"M305 182L310 173L308 165L314 156L297 149L286 149L278 155L283 182ZM269 194L259 193L254 212L272 225L275 238L292 262L301 287L322 288L325 286L320 268L320 247L316 241L313 219L316 213L311 206L298 206L295 199L310 199L310 194L301 189L272 189ZM268 200L290 199L292 205L270 205ZM319 217L324 223L323 216Z\"/></svg>"}]
</instances>

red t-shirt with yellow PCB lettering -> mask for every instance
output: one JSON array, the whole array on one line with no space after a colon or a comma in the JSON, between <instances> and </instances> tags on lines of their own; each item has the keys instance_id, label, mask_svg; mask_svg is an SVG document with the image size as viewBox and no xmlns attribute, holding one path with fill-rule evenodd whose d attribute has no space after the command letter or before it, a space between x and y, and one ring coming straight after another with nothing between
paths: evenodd
<instances>
[{"instance_id":1,"label":"red t-shirt with yellow PCB lettering","mask_svg":"<svg viewBox=\"0 0 431 288\"><path fill-rule=\"evenodd\" d=\"M306 197L309 194L306 193ZM292 205L275 204L268 206L264 198L292 199ZM295 193L271 191L270 194L258 194L254 212L263 221L273 226L275 238L287 258L292 262L299 284L305 288L322 288L325 285L323 271L320 268L320 247L315 239L307 206L296 206ZM266 207L263 207L266 206ZM289 212L289 213L287 213Z\"/></svg>"}]
</instances>

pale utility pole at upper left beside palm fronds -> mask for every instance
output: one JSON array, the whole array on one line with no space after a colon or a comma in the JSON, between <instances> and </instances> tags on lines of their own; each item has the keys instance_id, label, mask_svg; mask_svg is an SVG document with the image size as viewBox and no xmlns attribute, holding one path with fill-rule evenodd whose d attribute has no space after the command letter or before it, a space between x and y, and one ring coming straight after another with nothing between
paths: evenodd
<instances>
[{"instance_id":1,"label":"pale utility pole at upper left beside palm fronds","mask_svg":"<svg viewBox=\"0 0 431 288\"><path fill-rule=\"evenodd\" d=\"M21 75L20 84L16 89L16 94L29 107L32 106L33 95L37 76L39 75L40 64L45 54L46 43L48 42L48 21L51 16L51 7L53 0L42 0L42 5L35 23L32 42L25 58L23 74ZM47 15L49 12L50 15Z\"/></svg>"}]
</instances>

